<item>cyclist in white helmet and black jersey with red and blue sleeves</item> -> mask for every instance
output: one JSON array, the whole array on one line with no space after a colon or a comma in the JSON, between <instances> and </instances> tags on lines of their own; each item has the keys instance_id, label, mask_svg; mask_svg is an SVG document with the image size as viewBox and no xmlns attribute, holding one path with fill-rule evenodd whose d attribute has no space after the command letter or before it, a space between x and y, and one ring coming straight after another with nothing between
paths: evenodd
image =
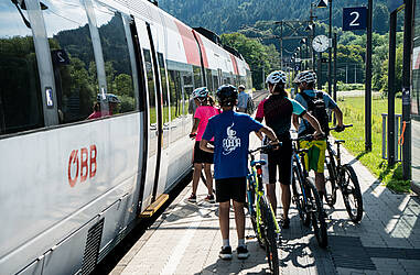
<instances>
[{"instance_id":1,"label":"cyclist in white helmet and black jersey with red and blue sleeves","mask_svg":"<svg viewBox=\"0 0 420 275\"><path fill-rule=\"evenodd\" d=\"M323 134L316 119L309 114L299 102L289 98L289 95L284 90L286 81L287 76L282 70L276 70L268 75L266 82L268 84L271 95L258 105L256 114L256 120L262 122L265 119L266 124L274 131L277 139L282 142L279 150L268 153L268 173L262 173L262 175L267 176L268 174L268 183L267 178L265 178L267 184L267 197L276 212L277 169L279 170L281 201L283 206L281 224L283 229L288 229L290 224L289 208L291 201L290 185L292 169L290 128L292 114L306 119L311 125L316 129L316 135Z\"/></svg>"}]
</instances>

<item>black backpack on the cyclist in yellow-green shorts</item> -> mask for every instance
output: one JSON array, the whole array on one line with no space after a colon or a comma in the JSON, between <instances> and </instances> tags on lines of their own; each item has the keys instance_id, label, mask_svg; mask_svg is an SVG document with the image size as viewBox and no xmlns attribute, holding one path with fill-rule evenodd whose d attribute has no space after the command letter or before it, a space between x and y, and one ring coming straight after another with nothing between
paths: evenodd
<instances>
[{"instance_id":1,"label":"black backpack on the cyclist in yellow-green shorts","mask_svg":"<svg viewBox=\"0 0 420 275\"><path fill-rule=\"evenodd\" d=\"M315 90L315 97L312 98L308 96L305 92L300 92L302 98L306 101L308 103L308 112L311 113L315 119L320 122L321 129L325 134L329 134L329 114L326 113L326 107L323 98L323 92ZM315 129L308 122L304 121L305 123L305 131L302 133L302 135L305 134L312 134L315 132Z\"/></svg>"}]
</instances>

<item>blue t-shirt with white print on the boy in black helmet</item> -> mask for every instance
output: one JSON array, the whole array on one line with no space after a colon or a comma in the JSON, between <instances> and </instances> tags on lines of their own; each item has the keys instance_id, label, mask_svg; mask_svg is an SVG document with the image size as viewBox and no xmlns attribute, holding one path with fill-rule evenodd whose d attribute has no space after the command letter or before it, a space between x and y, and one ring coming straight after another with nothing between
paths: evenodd
<instances>
[{"instance_id":1,"label":"blue t-shirt with white print on the boy in black helmet","mask_svg":"<svg viewBox=\"0 0 420 275\"><path fill-rule=\"evenodd\" d=\"M208 120L203 140L214 138L214 178L247 176L249 133L262 124L245 113L224 111Z\"/></svg>"}]
</instances>

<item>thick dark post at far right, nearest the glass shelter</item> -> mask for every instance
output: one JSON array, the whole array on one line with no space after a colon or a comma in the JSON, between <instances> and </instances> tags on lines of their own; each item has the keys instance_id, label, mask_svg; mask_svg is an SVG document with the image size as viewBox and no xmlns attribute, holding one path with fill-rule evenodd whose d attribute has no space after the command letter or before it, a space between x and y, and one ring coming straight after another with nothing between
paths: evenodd
<instances>
[{"instance_id":1,"label":"thick dark post at far right, nearest the glass shelter","mask_svg":"<svg viewBox=\"0 0 420 275\"><path fill-rule=\"evenodd\" d=\"M402 144L402 177L411 178L411 119L410 119L410 62L413 23L413 1L406 0L403 22L403 58L402 58L402 123L406 125Z\"/></svg>"}]
</instances>

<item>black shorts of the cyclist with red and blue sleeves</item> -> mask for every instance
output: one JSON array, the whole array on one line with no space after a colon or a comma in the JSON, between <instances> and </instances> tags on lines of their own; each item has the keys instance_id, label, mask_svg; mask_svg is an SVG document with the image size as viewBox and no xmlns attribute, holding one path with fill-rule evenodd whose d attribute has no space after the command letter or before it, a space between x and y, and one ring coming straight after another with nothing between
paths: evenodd
<instances>
[{"instance_id":1,"label":"black shorts of the cyclist with red and blue sleeves","mask_svg":"<svg viewBox=\"0 0 420 275\"><path fill-rule=\"evenodd\" d=\"M292 142L291 140L282 140L282 145L278 150L273 150L267 154L267 177L263 176L266 184L277 183L277 170L279 170L279 182L282 185L291 184L292 175ZM263 175L262 170L262 175Z\"/></svg>"}]
</instances>

